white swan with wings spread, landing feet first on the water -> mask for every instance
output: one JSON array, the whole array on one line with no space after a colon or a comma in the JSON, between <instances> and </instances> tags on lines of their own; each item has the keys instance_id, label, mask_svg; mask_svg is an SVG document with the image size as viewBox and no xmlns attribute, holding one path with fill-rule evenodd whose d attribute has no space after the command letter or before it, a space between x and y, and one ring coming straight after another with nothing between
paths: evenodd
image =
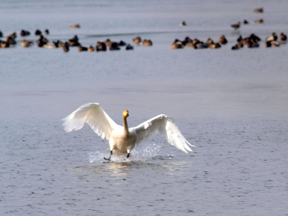
<instances>
[{"instance_id":1,"label":"white swan with wings spread, landing feet first on the water","mask_svg":"<svg viewBox=\"0 0 288 216\"><path fill-rule=\"evenodd\" d=\"M171 145L186 153L192 151L188 145L195 147L183 137L174 120L167 115L157 115L133 128L128 128L128 116L128 110L125 110L123 112L123 126L120 126L105 113L98 103L87 103L62 121L64 121L63 126L66 132L79 130L86 122L102 139L106 138L109 141L110 157L104 158L105 160L110 160L113 153L128 153L128 158L135 144L138 145L158 132L161 132Z\"/></svg>"}]
</instances>

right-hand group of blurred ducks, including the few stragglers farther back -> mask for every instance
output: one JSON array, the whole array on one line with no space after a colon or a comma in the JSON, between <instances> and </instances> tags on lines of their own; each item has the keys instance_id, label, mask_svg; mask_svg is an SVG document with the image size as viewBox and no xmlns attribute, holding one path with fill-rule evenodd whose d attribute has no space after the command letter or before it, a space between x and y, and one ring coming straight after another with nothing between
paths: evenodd
<instances>
[{"instance_id":1,"label":"right-hand group of blurred ducks, including the few stragglers farther back","mask_svg":"<svg viewBox=\"0 0 288 216\"><path fill-rule=\"evenodd\" d=\"M264 8L256 8L254 9L255 13L263 13L264 12ZM254 23L263 23L264 20L263 19L257 19L254 20ZM241 22L238 21L236 24L232 24L231 27L236 30L240 28L240 24ZM247 20L243 20L243 24L249 24L249 22ZM186 26L187 23L185 21L182 21L179 23L180 26ZM280 46L280 44L284 44L287 41L287 36L282 32L279 35L279 39L280 42L277 41L278 39L278 35L273 32L270 36L266 37L265 39L265 47L273 47L273 46ZM236 44L234 46L232 46L232 50L238 50L242 47L244 47L244 45L247 45L248 48L254 48L254 47L259 47L259 41L261 39L255 35L254 33L252 33L251 35L242 38L242 36L240 35L240 37L238 37L238 39L236 40ZM190 37L185 37L185 39L183 41L179 40L179 39L175 39L175 41L171 44L170 48L171 49L179 49L179 48L184 48L185 46L187 47L193 47L194 49L204 49L204 48L211 48L211 49L216 49L216 48L220 48L221 45L226 44L228 41L226 39L226 37L224 35L222 35L221 37L219 37L217 42L214 42L210 37L206 40L206 42L200 41L199 39L195 38L195 39L191 39Z\"/></svg>"}]
</instances>

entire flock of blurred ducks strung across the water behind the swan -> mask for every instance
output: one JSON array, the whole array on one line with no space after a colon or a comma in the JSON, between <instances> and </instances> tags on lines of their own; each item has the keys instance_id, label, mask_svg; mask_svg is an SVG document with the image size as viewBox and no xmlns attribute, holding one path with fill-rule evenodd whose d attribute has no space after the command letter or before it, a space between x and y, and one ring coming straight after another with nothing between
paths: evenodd
<instances>
[{"instance_id":1,"label":"entire flock of blurred ducks strung across the water behind the swan","mask_svg":"<svg viewBox=\"0 0 288 216\"><path fill-rule=\"evenodd\" d=\"M264 8L256 8L254 10L255 13L263 13L264 12ZM255 20L254 23L262 23L264 22L263 19L259 19L259 20ZM236 24L232 24L231 27L236 30L240 28L240 21L237 22ZM249 22L247 20L243 20L243 24L249 24ZM187 23L185 21L182 21L179 23L179 25L181 26L185 26L187 25ZM75 29L75 28L80 28L80 24L75 24L75 25L71 25L69 26L71 29ZM64 52L68 52L70 47L78 47L78 51L82 52L82 51L88 51L88 52L99 52L99 51L106 51L106 50L120 50L120 47L125 46L126 50L133 50L134 47L131 46L130 44L127 44L124 41L111 41L110 39L106 39L103 41L98 41L96 43L96 46L92 46L90 45L89 47L84 47L79 43L79 38L77 35L75 35L73 38L68 39L65 42L62 42L60 40L57 41L53 41L53 42L49 42L48 39L45 37L45 35L49 35L50 31L48 29L45 29L43 31L36 29L35 31L35 35L38 35L39 38L37 39L37 46L38 47L44 47L44 48L58 48L61 47L63 49ZM26 37L31 35L31 33L27 30L22 29L20 31L20 35L22 37ZM3 33L0 31L0 37L3 37ZM0 40L0 48L7 48L7 47L12 47L12 46L16 46L16 37L17 37L17 33L14 32L10 35L8 35L7 37L5 37L5 40ZM272 35L266 37L265 40L265 47L273 47L273 46L280 46L281 44L285 43L285 41L287 40L287 36L284 33L281 33L279 35L279 39L280 42L277 41L278 39L278 35L276 33L272 33ZM253 47L259 47L259 41L261 39L256 36L255 34L251 34L247 37L242 38L242 36L240 35L240 37L237 39L236 44L234 46L232 46L232 50L238 50L242 47L244 47L245 45L247 45L248 48L253 48ZM140 44L143 46L152 46L152 41L149 40L142 40L140 36L137 36L135 38L132 39L132 41L135 44ZM222 45L228 43L228 40L226 39L225 35L222 35L221 37L219 37L217 42L214 42L210 37L206 40L206 42L200 41L197 38L191 39L190 37L185 37L185 39L183 41L179 40L179 39L175 39L175 41L171 44L170 48L171 49L179 49L179 48L184 48L186 47L193 47L194 49L203 49L203 48L211 48L211 49L217 49L217 48L221 48ZM26 40L23 39L20 42L22 47L30 47L32 46L34 43L31 40Z\"/></svg>"}]
</instances>

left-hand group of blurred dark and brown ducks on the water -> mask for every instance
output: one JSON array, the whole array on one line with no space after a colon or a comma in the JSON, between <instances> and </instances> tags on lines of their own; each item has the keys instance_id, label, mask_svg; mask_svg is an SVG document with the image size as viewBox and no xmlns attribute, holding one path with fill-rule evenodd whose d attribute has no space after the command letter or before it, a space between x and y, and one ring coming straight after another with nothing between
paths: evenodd
<instances>
[{"instance_id":1,"label":"left-hand group of blurred dark and brown ducks on the water","mask_svg":"<svg viewBox=\"0 0 288 216\"><path fill-rule=\"evenodd\" d=\"M76 24L76 25L72 25L70 26L70 28L80 28L80 25L79 24ZM84 47L82 46L80 43L79 43L79 38L77 35L75 35L74 37L68 39L67 41L65 42L62 42L60 40L57 40L57 41L53 41L53 42L49 42L49 40L47 39L47 37L45 37L45 35L49 35L50 34L50 31L48 29L46 30L39 30L39 29L36 29L35 31L35 35L38 35L38 39L37 39L37 46L38 47L44 47L44 48L59 48L61 47L63 49L64 52L68 52L69 51L69 47L78 47L78 51L81 52L81 51L89 51L89 52L92 52L92 51L106 51L106 50L120 50L120 47L121 46L125 46L126 47L126 50L133 50L134 47L131 46L130 44L127 44L126 42L124 41L111 41L109 38L104 40L104 41L98 41L96 43L96 46L92 46L90 45L89 47ZM31 33L27 30L24 30L22 29L20 31L20 35L22 37L26 37L26 36L29 36L31 35ZM3 33L0 31L0 37L3 37ZM17 33L14 32L10 35L8 35L7 37L5 37L5 40L0 40L0 48L7 48L7 47L14 47L16 46L17 42L16 42L16 37L17 37ZM139 44L139 45L143 45L143 46L152 46L152 41L149 39L144 39L142 40L140 36L137 36L135 38L132 39L132 41L136 44ZM26 39L23 39L21 42L20 42L20 45L22 47L30 47L30 46L33 46L34 42L31 41L31 40L26 40Z\"/></svg>"}]
</instances>

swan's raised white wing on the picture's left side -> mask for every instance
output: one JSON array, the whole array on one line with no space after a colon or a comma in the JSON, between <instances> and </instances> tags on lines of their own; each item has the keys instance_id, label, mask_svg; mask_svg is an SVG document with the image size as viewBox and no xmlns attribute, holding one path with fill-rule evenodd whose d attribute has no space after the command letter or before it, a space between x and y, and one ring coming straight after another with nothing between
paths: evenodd
<instances>
[{"instance_id":1,"label":"swan's raised white wing on the picture's left side","mask_svg":"<svg viewBox=\"0 0 288 216\"><path fill-rule=\"evenodd\" d=\"M79 130L84 123L98 134L102 139L109 140L112 130L117 125L98 103L87 103L76 109L73 113L62 119L66 132Z\"/></svg>"}]
</instances>

